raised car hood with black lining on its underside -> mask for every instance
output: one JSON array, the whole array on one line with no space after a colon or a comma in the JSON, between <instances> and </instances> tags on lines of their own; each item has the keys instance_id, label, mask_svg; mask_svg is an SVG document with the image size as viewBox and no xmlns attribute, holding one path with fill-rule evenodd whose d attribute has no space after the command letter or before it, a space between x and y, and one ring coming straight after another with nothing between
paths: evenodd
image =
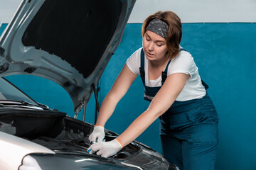
<instances>
[{"instance_id":1,"label":"raised car hood with black lining on its underside","mask_svg":"<svg viewBox=\"0 0 256 170\"><path fill-rule=\"evenodd\" d=\"M92 95L135 0L23 0L0 39L0 76L32 74L68 91L75 110Z\"/></svg>"}]
</instances>

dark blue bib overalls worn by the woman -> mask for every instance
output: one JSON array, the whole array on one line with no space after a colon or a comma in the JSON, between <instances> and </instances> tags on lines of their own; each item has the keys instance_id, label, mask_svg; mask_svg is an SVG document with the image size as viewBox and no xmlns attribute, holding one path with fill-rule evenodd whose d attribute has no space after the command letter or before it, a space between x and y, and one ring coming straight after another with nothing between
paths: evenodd
<instances>
[{"instance_id":1,"label":"dark blue bib overalls worn by the woman","mask_svg":"<svg viewBox=\"0 0 256 170\"><path fill-rule=\"evenodd\" d=\"M183 49L181 49L183 50ZM162 72L161 84L167 77L167 69ZM145 96L154 97L159 87L145 85L144 51L141 52L139 68L145 88ZM207 84L202 81L208 89ZM146 101L151 101L144 97ZM161 149L164 157L181 170L213 170L218 145L218 115L210 97L190 101L174 101L160 116Z\"/></svg>"}]
</instances>

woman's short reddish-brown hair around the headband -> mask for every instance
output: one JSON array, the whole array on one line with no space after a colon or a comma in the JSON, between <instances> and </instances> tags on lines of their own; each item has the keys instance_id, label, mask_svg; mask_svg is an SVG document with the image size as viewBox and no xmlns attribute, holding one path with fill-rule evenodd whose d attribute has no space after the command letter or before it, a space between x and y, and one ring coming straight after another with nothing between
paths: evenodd
<instances>
[{"instance_id":1,"label":"woman's short reddish-brown hair around the headband","mask_svg":"<svg viewBox=\"0 0 256 170\"><path fill-rule=\"evenodd\" d=\"M158 11L144 21L142 25L142 36L145 35L146 27L154 18L164 21L168 25L168 35L166 37L167 56L173 59L179 52L179 44L182 37L181 19L172 11Z\"/></svg>"}]
</instances>

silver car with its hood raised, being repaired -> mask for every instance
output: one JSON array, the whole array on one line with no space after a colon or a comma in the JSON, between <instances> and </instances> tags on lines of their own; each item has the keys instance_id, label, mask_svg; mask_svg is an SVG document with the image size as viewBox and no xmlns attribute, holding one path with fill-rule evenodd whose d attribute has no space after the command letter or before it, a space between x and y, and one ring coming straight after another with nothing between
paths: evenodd
<instances>
[{"instance_id":1,"label":"silver car with its hood raised, being repaired","mask_svg":"<svg viewBox=\"0 0 256 170\"><path fill-rule=\"evenodd\" d=\"M1 170L178 169L135 140L109 158L88 154L94 125L85 122L86 109L78 120L119 45L134 3L21 1L0 39ZM14 74L62 86L73 101L74 118L36 102L4 78ZM106 141L117 136L105 130Z\"/></svg>"}]
</instances>

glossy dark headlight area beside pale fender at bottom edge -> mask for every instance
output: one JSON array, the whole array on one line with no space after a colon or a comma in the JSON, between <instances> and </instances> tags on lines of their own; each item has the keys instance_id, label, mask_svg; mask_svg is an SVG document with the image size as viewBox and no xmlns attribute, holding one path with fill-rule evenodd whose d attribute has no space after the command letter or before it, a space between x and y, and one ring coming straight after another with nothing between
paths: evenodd
<instances>
[{"instance_id":1,"label":"glossy dark headlight area beside pale fender at bottom edge","mask_svg":"<svg viewBox=\"0 0 256 170\"><path fill-rule=\"evenodd\" d=\"M31 159L34 160L31 161ZM134 166L132 164L124 164L123 162L114 162L102 157L90 157L89 155L78 154L30 154L25 157L24 160L25 161L23 161L23 165L21 166L23 169L35 166L35 169L40 167L41 169L47 170L55 170L56 167L62 170L142 170L139 166ZM31 164L31 162L33 162L33 164Z\"/></svg>"}]
</instances>

